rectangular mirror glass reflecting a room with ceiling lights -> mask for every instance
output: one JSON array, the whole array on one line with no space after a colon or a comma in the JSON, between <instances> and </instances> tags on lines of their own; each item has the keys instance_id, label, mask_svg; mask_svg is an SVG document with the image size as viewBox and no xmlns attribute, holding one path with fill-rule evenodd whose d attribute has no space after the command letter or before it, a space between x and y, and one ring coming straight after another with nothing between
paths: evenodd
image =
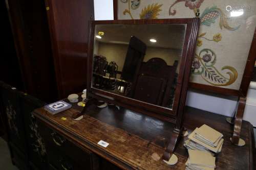
<instances>
[{"instance_id":1,"label":"rectangular mirror glass reflecting a room with ceiling lights","mask_svg":"<svg viewBox=\"0 0 256 170\"><path fill-rule=\"evenodd\" d=\"M172 108L186 25L96 25L92 87Z\"/></svg>"}]
</instances>

